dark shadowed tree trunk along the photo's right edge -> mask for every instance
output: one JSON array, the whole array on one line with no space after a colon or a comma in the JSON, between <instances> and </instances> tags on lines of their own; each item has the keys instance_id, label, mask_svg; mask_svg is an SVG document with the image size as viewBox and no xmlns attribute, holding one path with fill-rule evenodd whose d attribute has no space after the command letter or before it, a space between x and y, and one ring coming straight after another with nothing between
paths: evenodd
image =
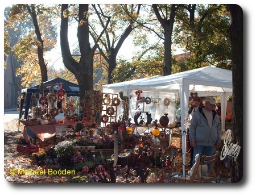
<instances>
[{"instance_id":1,"label":"dark shadowed tree trunk along the photo's right edge","mask_svg":"<svg viewBox=\"0 0 256 196\"><path fill-rule=\"evenodd\" d=\"M232 45L233 73L233 143L241 146L236 162L232 162L232 182L240 182L243 177L243 11L238 5L227 5L231 16L230 41Z\"/></svg>"}]
</instances>

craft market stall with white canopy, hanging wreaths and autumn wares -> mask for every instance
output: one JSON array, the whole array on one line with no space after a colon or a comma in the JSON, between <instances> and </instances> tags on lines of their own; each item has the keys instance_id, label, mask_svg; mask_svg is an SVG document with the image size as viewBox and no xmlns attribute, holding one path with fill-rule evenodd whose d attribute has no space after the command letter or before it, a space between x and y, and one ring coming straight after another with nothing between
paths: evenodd
<instances>
[{"instance_id":1,"label":"craft market stall with white canopy, hanging wreaths and autumn wares","mask_svg":"<svg viewBox=\"0 0 256 196\"><path fill-rule=\"evenodd\" d=\"M42 94L39 105L32 109L32 119L28 119L31 122L37 120L38 124L24 126L24 135L30 130L44 141L71 126L72 138L65 135L65 140L55 146L56 151L64 142L71 146L72 152L74 149L79 153L108 149L113 152L111 159L108 157L113 164L112 169L121 160L125 160L122 162L125 166L129 159L133 160L133 155L136 155L136 161L130 166L137 169L145 169L148 165L163 167L163 164L168 166L171 162L171 136L179 120L176 117L180 115L185 176L187 130L183 120L187 117L189 98L195 93L200 97L218 95L221 97L221 114L225 114L226 99L232 95L232 72L207 66L170 76L104 85L102 92L86 91L84 98L67 98L63 86L55 91L56 84L48 85L47 90L43 89L47 84L39 85ZM57 99L64 103L59 109L56 109ZM63 119L56 119L60 109L63 110ZM222 116L222 124L225 125L225 115ZM89 127L96 126L91 129L88 123L92 123Z\"/></svg>"}]
</instances>

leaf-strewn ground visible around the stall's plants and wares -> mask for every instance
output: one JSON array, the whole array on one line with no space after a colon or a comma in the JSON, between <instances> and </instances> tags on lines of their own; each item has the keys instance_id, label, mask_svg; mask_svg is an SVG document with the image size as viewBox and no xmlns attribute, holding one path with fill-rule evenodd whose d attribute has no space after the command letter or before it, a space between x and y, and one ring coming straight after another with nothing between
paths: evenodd
<instances>
[{"instance_id":1,"label":"leaf-strewn ground visible around the stall's plants and wares","mask_svg":"<svg viewBox=\"0 0 256 196\"><path fill-rule=\"evenodd\" d=\"M20 125L19 130L22 130L22 125ZM24 170L40 170L42 169L40 166L36 164L36 161L31 156L31 153L20 153L17 151L17 144L16 144L16 138L21 134L18 130L18 120L13 120L10 123L5 124L5 135L4 135L4 176L6 181L8 182L14 182L14 183L65 183L68 181L67 176L61 176L61 175L24 175L24 174L18 174L17 172L15 174L11 174L11 169L24 169ZM47 141L38 141L37 144L44 148L47 145L51 144L52 140ZM179 151L180 149L180 132L174 131L173 137L172 137L172 144L171 147L166 149L164 152L164 155L174 155L174 160L171 162L171 164L168 167L164 167L163 172L164 173L175 173L175 172L181 172L183 171L183 165L182 165L182 158L181 153ZM189 160L189 153L187 153L187 160ZM190 167L185 166L186 173ZM151 172L158 173L162 170L156 168L150 168ZM223 170L222 172L222 165L218 164L217 168L217 174L221 175L223 178L228 177L228 173L226 170Z\"/></svg>"}]
</instances>

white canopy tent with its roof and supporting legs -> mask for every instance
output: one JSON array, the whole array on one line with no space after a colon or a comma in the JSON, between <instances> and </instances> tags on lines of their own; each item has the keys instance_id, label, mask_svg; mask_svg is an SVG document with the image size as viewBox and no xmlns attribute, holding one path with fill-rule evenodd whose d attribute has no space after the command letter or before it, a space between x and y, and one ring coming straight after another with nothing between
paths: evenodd
<instances>
[{"instance_id":1,"label":"white canopy tent with its roof and supporting legs","mask_svg":"<svg viewBox=\"0 0 256 196\"><path fill-rule=\"evenodd\" d=\"M121 82L122 83L122 82ZM110 89L118 89L121 83L102 86L102 92L109 91ZM181 120L185 119L188 115L188 102L190 92L197 92L200 97L217 96L221 97L221 129L225 128L225 114L226 114L226 101L229 95L232 95L232 71L215 68L213 66L206 66L171 74L163 77L153 77L148 80L138 82L131 82L126 85L127 95L133 89L143 89L144 91L155 91L179 94ZM124 86L122 86L122 90ZM119 89L120 90L120 89ZM124 92L125 93L125 92ZM181 123L181 130L185 130L184 123ZM183 151L183 165L185 165L185 135L182 137L182 151ZM185 169L183 169L185 171ZM185 173L183 173L185 175Z\"/></svg>"}]
</instances>

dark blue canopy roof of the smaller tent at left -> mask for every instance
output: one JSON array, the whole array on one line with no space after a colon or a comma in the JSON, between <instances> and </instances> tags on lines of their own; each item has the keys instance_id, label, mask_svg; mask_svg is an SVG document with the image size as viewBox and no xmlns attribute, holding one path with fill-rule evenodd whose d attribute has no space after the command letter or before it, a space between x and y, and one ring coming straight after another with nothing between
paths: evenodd
<instances>
[{"instance_id":1,"label":"dark blue canopy roof of the smaller tent at left","mask_svg":"<svg viewBox=\"0 0 256 196\"><path fill-rule=\"evenodd\" d=\"M65 90L65 93L68 96L79 96L79 93L80 93L79 85L74 84L72 82L69 82L67 80L64 80L62 78L59 78L59 77L44 82L44 85L56 84L56 85L53 86L53 90L57 91L57 90L60 89L60 84L61 83L62 83L62 88ZM47 91L47 87L44 87L44 90ZM22 92L40 93L40 85L35 85L35 86L28 87L26 89L22 89Z\"/></svg>"}]
</instances>

